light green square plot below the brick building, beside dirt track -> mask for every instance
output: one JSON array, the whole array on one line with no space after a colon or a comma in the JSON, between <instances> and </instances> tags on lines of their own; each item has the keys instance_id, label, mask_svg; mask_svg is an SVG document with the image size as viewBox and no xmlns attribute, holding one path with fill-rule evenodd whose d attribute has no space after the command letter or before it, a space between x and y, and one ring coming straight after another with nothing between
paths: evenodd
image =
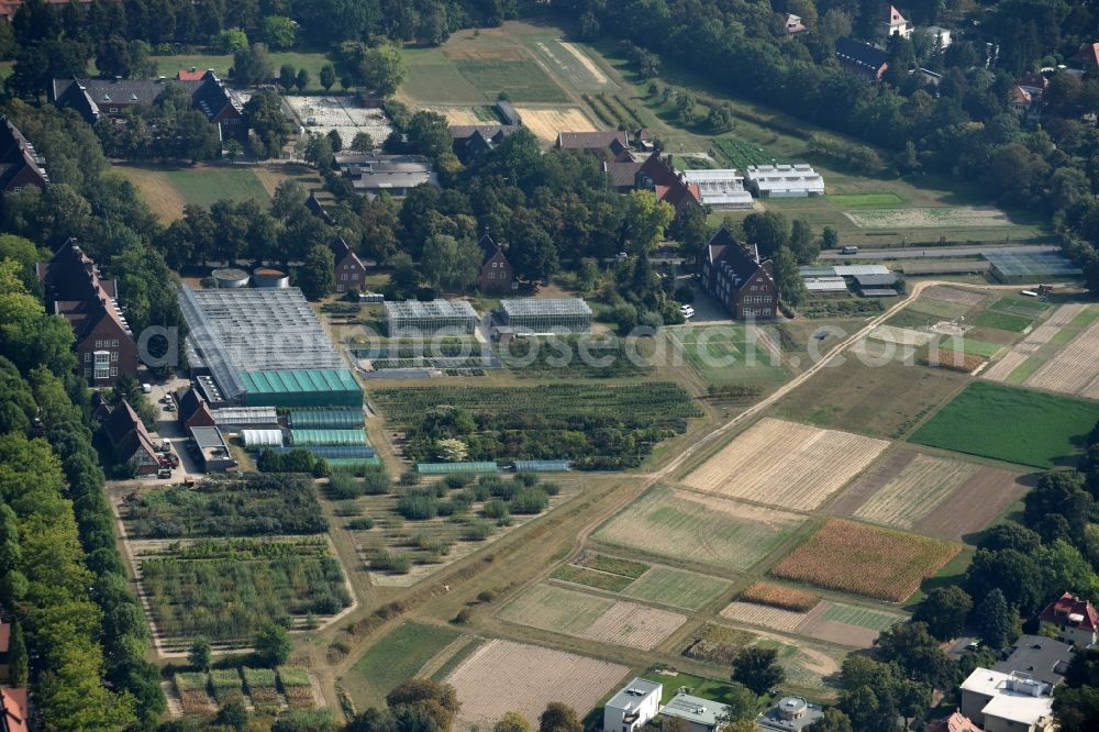
<instances>
[{"instance_id":1,"label":"light green square plot below the brick building, beside dirt track","mask_svg":"<svg viewBox=\"0 0 1099 732\"><path fill-rule=\"evenodd\" d=\"M788 378L781 359L741 324L669 329L674 347L707 384L778 385Z\"/></svg>"}]
</instances>

